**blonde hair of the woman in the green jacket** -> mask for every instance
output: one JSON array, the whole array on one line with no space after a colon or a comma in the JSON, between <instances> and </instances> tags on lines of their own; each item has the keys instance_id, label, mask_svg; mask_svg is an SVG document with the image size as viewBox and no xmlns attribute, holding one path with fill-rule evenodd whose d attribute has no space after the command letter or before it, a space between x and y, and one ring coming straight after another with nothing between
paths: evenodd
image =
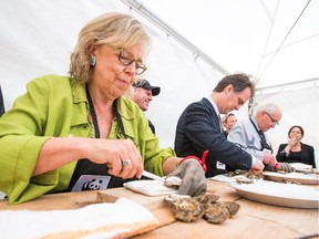
<instances>
[{"instance_id":1,"label":"blonde hair of the woman in the green jacket","mask_svg":"<svg viewBox=\"0 0 319 239\"><path fill-rule=\"evenodd\" d=\"M145 49L151 45L151 38L140 21L130 14L104 13L80 31L74 52L71 53L69 74L82 83L92 81L93 67L90 65L89 48L93 44L125 49L135 43L142 44Z\"/></svg>"}]
</instances>

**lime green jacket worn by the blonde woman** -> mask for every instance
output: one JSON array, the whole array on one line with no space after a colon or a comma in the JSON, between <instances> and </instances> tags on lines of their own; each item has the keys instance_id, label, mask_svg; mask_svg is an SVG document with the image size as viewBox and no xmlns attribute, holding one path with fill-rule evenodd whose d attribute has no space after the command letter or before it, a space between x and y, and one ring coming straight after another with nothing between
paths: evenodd
<instances>
[{"instance_id":1,"label":"lime green jacket worn by the blonde woman","mask_svg":"<svg viewBox=\"0 0 319 239\"><path fill-rule=\"evenodd\" d=\"M163 176L163 162L175 156L161 148L144 113L131 100L116 100L125 133L137 145L144 168ZM27 93L0 118L0 190L10 204L68 188L76 162L32 177L42 145L50 137L92 137L85 86L66 76L47 75L27 84ZM109 138L124 138L114 117Z\"/></svg>"}]
</instances>

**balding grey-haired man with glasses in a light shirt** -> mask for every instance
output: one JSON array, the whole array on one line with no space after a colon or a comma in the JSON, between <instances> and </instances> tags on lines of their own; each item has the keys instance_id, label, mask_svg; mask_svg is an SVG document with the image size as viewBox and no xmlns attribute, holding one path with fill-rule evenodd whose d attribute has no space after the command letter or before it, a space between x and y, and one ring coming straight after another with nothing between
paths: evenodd
<instances>
[{"instance_id":1,"label":"balding grey-haired man with glasses in a light shirt","mask_svg":"<svg viewBox=\"0 0 319 239\"><path fill-rule=\"evenodd\" d=\"M291 172L288 164L278 164L272 155L272 147L266 136L269 128L279 124L281 110L276 104L265 104L257 110L254 117L237 122L227 138L257 158L263 158L265 169Z\"/></svg>"}]
</instances>

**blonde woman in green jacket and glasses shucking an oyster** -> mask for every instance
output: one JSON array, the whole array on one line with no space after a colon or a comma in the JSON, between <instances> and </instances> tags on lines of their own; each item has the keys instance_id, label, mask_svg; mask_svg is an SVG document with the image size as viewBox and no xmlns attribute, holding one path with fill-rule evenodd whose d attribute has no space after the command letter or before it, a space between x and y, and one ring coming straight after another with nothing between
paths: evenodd
<instances>
[{"instance_id":1,"label":"blonde woman in green jacket and glasses shucking an oyster","mask_svg":"<svg viewBox=\"0 0 319 239\"><path fill-rule=\"evenodd\" d=\"M146 71L151 39L130 14L106 13L80 32L70 75L45 75L0 118L0 190L9 204L43 194L121 187L143 169L182 178L179 194L206 190L196 159L161 148L147 118L122 97Z\"/></svg>"}]
</instances>

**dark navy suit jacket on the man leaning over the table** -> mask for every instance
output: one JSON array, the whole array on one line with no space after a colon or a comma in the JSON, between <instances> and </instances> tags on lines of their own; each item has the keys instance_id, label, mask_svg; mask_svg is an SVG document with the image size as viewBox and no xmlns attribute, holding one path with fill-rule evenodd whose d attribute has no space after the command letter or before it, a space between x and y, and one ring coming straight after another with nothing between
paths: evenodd
<instances>
[{"instance_id":1,"label":"dark navy suit jacket on the man leaning over the table","mask_svg":"<svg viewBox=\"0 0 319 239\"><path fill-rule=\"evenodd\" d=\"M227 170L251 167L251 155L227 141L220 132L219 118L207 98L188 105L181 115L175 136L177 156L195 155L202 157L204 150L209 153L206 158L206 177L225 174ZM227 170L217 169L216 162L226 164Z\"/></svg>"}]
</instances>

